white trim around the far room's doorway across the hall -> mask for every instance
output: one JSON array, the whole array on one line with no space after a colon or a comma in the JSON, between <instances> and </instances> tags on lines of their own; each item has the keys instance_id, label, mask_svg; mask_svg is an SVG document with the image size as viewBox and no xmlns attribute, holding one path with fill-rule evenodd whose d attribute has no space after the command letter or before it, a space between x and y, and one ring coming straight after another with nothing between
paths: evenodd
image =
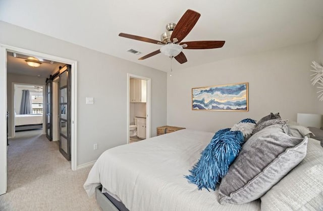
<instances>
[{"instance_id":1,"label":"white trim around the far room's doorway across the hall","mask_svg":"<svg viewBox=\"0 0 323 211\"><path fill-rule=\"evenodd\" d=\"M42 90L45 89L45 85L34 85L31 83L18 83L18 82L12 82L11 85L11 114L9 115L11 118L11 138L16 137L16 130L15 130L15 85L27 85L27 86L39 86L42 87ZM42 93L42 104L45 105L45 93ZM44 108L43 108L44 109ZM45 123L45 114L42 114L42 134L46 133L46 123Z\"/></svg>"}]
</instances>

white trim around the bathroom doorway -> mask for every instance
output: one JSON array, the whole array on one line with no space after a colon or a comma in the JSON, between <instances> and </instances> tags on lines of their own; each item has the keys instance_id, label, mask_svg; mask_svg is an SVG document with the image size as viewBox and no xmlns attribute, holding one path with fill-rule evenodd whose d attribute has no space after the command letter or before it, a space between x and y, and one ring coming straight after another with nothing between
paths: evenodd
<instances>
[{"instance_id":1,"label":"white trim around the bathroom doorway","mask_svg":"<svg viewBox=\"0 0 323 211\"><path fill-rule=\"evenodd\" d=\"M130 135L129 135L129 126L130 126L130 77L138 78L142 80L147 81L147 99L146 99L146 139L150 138L150 85L151 85L151 79L131 73L127 73L127 144L129 144L130 141Z\"/></svg>"}]
</instances>

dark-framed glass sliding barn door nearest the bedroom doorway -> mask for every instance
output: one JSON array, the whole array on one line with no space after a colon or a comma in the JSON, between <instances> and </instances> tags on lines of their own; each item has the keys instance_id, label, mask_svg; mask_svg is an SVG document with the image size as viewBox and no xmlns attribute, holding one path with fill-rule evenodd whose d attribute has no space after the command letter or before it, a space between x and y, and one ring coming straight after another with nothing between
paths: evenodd
<instances>
[{"instance_id":1,"label":"dark-framed glass sliding barn door nearest the bedroom doorway","mask_svg":"<svg viewBox=\"0 0 323 211\"><path fill-rule=\"evenodd\" d=\"M71 160L71 65L60 69L59 91L59 125L60 152L67 160Z\"/></svg>"}]
</instances>

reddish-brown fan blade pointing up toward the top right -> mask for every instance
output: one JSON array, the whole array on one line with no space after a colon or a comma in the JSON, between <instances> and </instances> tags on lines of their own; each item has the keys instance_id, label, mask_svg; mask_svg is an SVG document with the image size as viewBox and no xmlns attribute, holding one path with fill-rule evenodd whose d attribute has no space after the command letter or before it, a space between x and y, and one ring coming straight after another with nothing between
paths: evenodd
<instances>
[{"instance_id":1,"label":"reddish-brown fan blade pointing up toward the top right","mask_svg":"<svg viewBox=\"0 0 323 211\"><path fill-rule=\"evenodd\" d=\"M177 38L179 42L182 41L195 26L200 16L201 14L198 12L187 10L176 24L171 35L171 41L173 41L173 38Z\"/></svg>"}]
</instances>

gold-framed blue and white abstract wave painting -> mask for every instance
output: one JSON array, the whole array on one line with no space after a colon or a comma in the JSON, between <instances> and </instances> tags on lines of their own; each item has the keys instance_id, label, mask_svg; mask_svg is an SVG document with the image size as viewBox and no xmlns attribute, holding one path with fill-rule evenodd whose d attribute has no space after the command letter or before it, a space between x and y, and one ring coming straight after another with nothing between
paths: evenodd
<instances>
[{"instance_id":1,"label":"gold-framed blue and white abstract wave painting","mask_svg":"<svg viewBox=\"0 0 323 211\"><path fill-rule=\"evenodd\" d=\"M192 109L248 111L248 83L193 88Z\"/></svg>"}]
</instances>

